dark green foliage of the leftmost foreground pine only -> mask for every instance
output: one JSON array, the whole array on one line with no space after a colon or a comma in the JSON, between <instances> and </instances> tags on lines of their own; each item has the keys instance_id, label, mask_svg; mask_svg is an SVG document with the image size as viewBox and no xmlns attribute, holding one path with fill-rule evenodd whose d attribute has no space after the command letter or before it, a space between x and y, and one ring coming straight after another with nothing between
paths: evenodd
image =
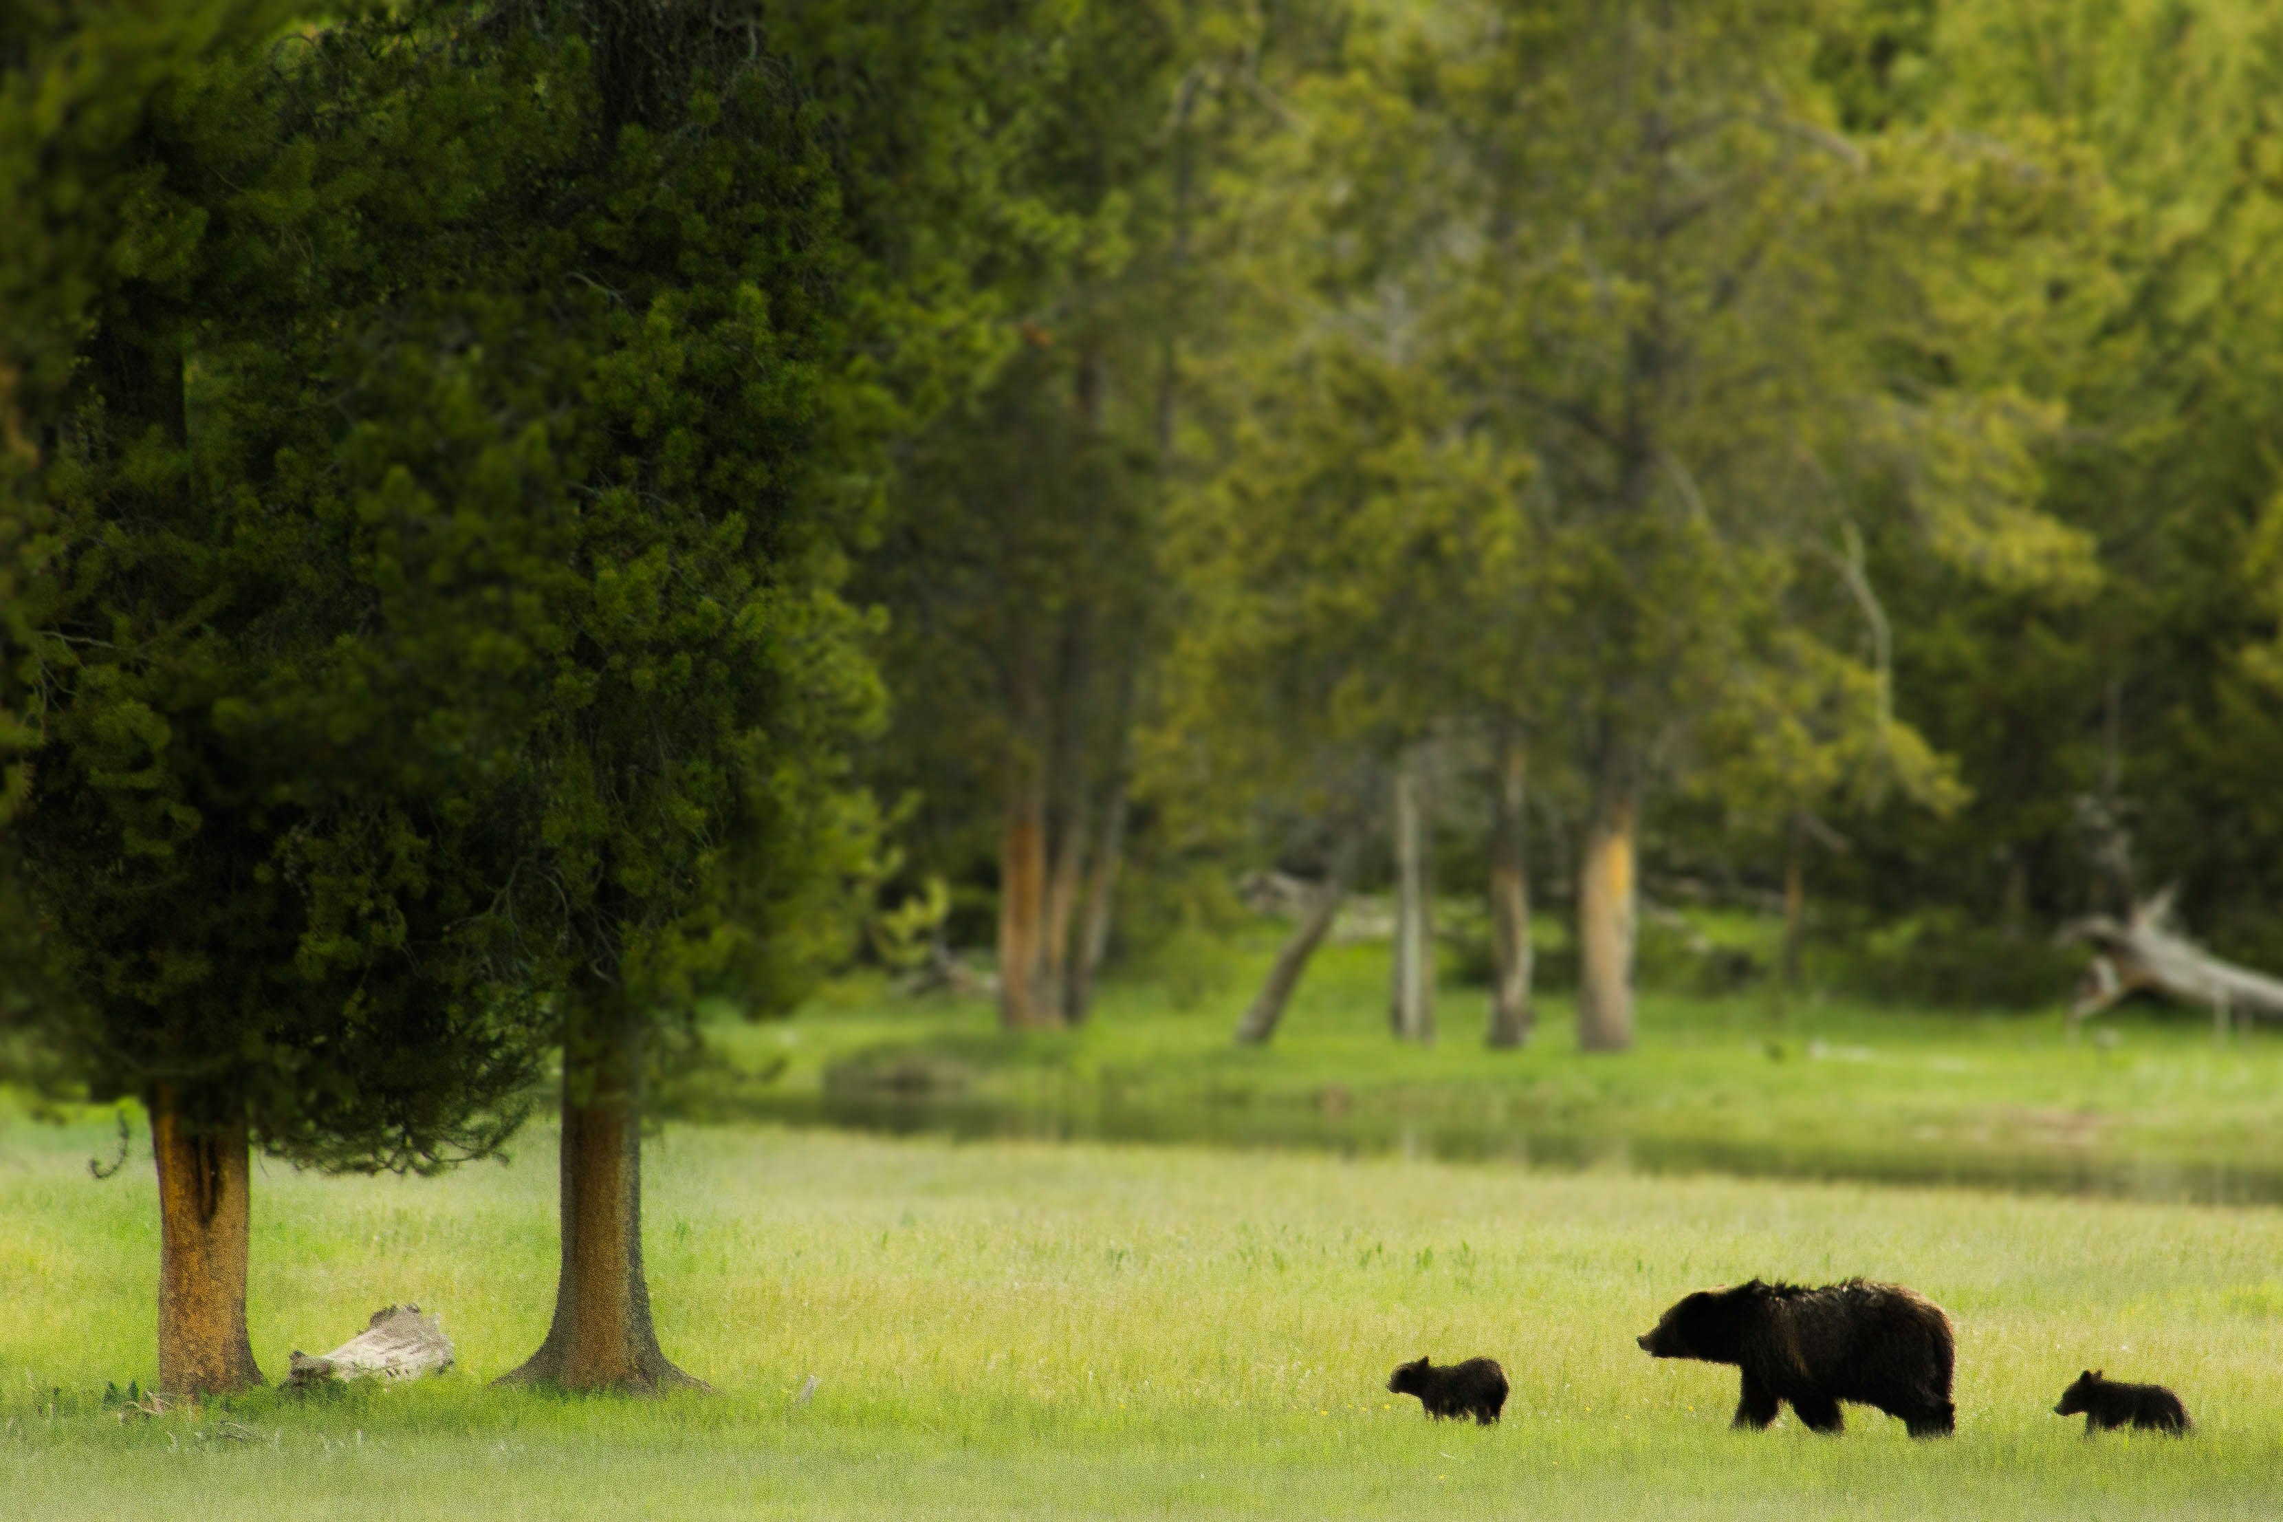
<instances>
[{"instance_id":1,"label":"dark green foliage of the leftmost foreground pine only","mask_svg":"<svg viewBox=\"0 0 2283 1522\"><path fill-rule=\"evenodd\" d=\"M78 299L18 363L32 744L0 851L37 956L7 1015L96 1098L164 1084L297 1159L486 1152L534 1077L541 952L500 892L500 753L436 632L390 623L384 525L331 468L349 208L290 137L276 14L11 41L14 128L59 80L100 107L11 187L7 278Z\"/></svg>"}]
</instances>

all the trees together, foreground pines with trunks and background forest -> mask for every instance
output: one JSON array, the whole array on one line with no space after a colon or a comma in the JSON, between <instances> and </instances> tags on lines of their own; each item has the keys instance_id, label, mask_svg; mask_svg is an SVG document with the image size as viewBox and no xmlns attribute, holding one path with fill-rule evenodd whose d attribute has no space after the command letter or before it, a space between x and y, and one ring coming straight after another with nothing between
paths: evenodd
<instances>
[{"instance_id":1,"label":"all the trees together, foreground pines with trunks and background forest","mask_svg":"<svg viewBox=\"0 0 2283 1522\"><path fill-rule=\"evenodd\" d=\"M1352 890L1413 1041L1452 899L1495 1047L1680 899L2276 968L2278 440L2251 0L0 0L0 1054L148 1109L212 1390L253 1150L559 1063L521 1376L669 1387L708 999L1059 1027L1256 872L1251 1041Z\"/></svg>"}]
</instances>

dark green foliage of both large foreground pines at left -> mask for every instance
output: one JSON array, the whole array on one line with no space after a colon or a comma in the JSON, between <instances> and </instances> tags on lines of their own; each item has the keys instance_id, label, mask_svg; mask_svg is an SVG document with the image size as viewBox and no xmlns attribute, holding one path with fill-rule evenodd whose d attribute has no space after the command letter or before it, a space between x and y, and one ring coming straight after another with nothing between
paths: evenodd
<instances>
[{"instance_id":1,"label":"dark green foliage of both large foreground pines at left","mask_svg":"<svg viewBox=\"0 0 2283 1522\"><path fill-rule=\"evenodd\" d=\"M43 942L11 1018L89 1091L431 1166L507 1134L564 999L783 1009L842 945L879 707L842 545L968 345L884 187L947 171L813 84L861 18L708 16L215 7L37 180L5 278L87 294L7 356L48 516L7 518L0 849Z\"/></svg>"}]
</instances>

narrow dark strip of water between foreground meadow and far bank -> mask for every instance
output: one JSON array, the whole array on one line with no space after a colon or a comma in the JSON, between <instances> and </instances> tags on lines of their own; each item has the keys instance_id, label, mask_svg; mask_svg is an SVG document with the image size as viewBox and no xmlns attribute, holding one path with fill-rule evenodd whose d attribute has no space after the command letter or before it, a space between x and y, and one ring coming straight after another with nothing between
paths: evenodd
<instances>
[{"instance_id":1,"label":"narrow dark strip of water between foreground meadow and far bank","mask_svg":"<svg viewBox=\"0 0 2283 1522\"><path fill-rule=\"evenodd\" d=\"M1386 1114L1347 1107L1167 1109L1103 1098L1009 1104L975 1098L824 1093L749 1095L735 1118L824 1125L957 1141L1135 1141L1226 1148L1306 1148L1340 1157L1493 1161L1530 1168L1733 1173L1740 1177L1961 1184L2194 1205L2283 1203L2283 1171L2226 1161L2164 1161L2087 1150L1975 1150L1970 1145L1788 1145L1760 1139L1564 1132L1463 1114ZM731 1118L710 1114L708 1118Z\"/></svg>"}]
</instances>

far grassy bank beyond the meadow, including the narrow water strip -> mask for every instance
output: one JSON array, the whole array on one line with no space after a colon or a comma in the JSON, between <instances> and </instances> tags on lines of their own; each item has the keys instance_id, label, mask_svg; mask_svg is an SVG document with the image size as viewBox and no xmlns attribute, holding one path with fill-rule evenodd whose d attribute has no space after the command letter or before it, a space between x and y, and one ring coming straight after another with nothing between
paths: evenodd
<instances>
[{"instance_id":1,"label":"far grassy bank beyond the meadow, including the narrow water strip","mask_svg":"<svg viewBox=\"0 0 2283 1522\"><path fill-rule=\"evenodd\" d=\"M1580 1054L1566 997L1523 1052L1482 1045L1479 988L1441 997L1443 1038L1386 1025L1386 947L1326 947L1274 1045L1237 1011L1274 940L1212 988L1112 983L1066 1034L1005 1036L989 1004L900 997L877 979L794 1020L708 1029L715 1061L676 1084L694 1118L957 1136L1094 1136L1514 1157L1651 1171L1970 1182L2187 1200L2283 1200L2283 1034L2215 1045L2160 1009L2068 1045L2059 1009L1927 1013L1758 988L1646 993L1639 1047Z\"/></svg>"}]
</instances>

